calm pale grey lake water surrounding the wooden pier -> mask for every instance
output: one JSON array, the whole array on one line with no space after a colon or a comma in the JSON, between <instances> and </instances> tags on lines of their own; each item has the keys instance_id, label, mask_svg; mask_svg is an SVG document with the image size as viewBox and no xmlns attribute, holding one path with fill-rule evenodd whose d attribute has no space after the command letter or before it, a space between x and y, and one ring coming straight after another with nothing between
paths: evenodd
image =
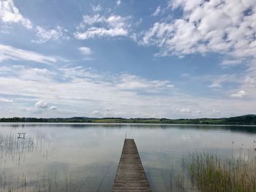
<instances>
[{"instance_id":1,"label":"calm pale grey lake water surrounding the wooden pier","mask_svg":"<svg viewBox=\"0 0 256 192\"><path fill-rule=\"evenodd\" d=\"M256 127L1 123L0 191L111 191L125 135L135 139L153 191L179 191L184 155L246 152Z\"/></svg>"}]
</instances>

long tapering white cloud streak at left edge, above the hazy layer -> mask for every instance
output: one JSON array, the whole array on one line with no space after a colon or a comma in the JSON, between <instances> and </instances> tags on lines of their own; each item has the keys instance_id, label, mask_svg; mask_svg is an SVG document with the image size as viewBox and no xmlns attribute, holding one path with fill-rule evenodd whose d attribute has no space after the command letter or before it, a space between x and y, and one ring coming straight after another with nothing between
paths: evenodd
<instances>
[{"instance_id":1,"label":"long tapering white cloud streak at left edge, above the hazy layer","mask_svg":"<svg viewBox=\"0 0 256 192\"><path fill-rule=\"evenodd\" d=\"M8 45L0 44L0 62L6 60L24 60L42 64L56 62L56 58L50 56L45 56L30 50L22 50Z\"/></svg>"}]
</instances>

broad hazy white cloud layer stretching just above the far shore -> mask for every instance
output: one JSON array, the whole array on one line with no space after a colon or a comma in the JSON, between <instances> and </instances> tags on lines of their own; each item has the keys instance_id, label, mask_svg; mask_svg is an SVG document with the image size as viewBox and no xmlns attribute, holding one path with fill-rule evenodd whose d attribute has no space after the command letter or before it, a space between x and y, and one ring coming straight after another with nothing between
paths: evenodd
<instances>
[{"instance_id":1,"label":"broad hazy white cloud layer stretching just above the far shore","mask_svg":"<svg viewBox=\"0 0 256 192\"><path fill-rule=\"evenodd\" d=\"M1 94L19 96L15 103L26 104L22 109L17 108L16 115L23 115L25 108L34 109L27 104L31 101L36 103L42 96L49 104L41 102L39 105L48 107L36 107L34 110L41 113L36 114L33 110L26 115L91 116L91 112L96 110L99 116L111 117L199 118L216 117L217 112L209 109L218 109L222 116L235 116L252 113L256 107L252 99L239 99L234 103L230 97L189 96L173 88L167 80L148 80L132 74L99 74L83 67L63 66L52 71L20 66L1 68ZM247 81L253 82L251 79ZM62 107L53 113L50 110L53 106ZM177 112L170 110L173 108ZM6 110L7 106L4 106L0 116L7 116L3 112Z\"/></svg>"}]
</instances>

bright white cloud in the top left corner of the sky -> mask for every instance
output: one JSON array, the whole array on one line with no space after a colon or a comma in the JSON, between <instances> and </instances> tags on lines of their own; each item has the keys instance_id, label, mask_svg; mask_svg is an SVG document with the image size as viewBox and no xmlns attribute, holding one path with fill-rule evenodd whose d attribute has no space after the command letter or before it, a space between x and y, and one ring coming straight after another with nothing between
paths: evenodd
<instances>
[{"instance_id":1,"label":"bright white cloud in the top left corner of the sky","mask_svg":"<svg viewBox=\"0 0 256 192\"><path fill-rule=\"evenodd\" d=\"M3 23L21 23L26 28L33 28L31 21L23 18L12 0L0 1L0 20Z\"/></svg>"}]
</instances>

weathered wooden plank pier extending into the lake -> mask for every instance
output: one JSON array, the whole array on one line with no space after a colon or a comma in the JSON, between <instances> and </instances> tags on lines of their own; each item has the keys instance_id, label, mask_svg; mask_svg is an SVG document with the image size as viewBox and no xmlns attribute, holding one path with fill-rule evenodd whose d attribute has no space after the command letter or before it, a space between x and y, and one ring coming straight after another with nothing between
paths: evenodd
<instances>
[{"instance_id":1,"label":"weathered wooden plank pier extending into the lake","mask_svg":"<svg viewBox=\"0 0 256 192\"><path fill-rule=\"evenodd\" d=\"M124 140L112 191L152 191L134 139Z\"/></svg>"}]
</instances>

